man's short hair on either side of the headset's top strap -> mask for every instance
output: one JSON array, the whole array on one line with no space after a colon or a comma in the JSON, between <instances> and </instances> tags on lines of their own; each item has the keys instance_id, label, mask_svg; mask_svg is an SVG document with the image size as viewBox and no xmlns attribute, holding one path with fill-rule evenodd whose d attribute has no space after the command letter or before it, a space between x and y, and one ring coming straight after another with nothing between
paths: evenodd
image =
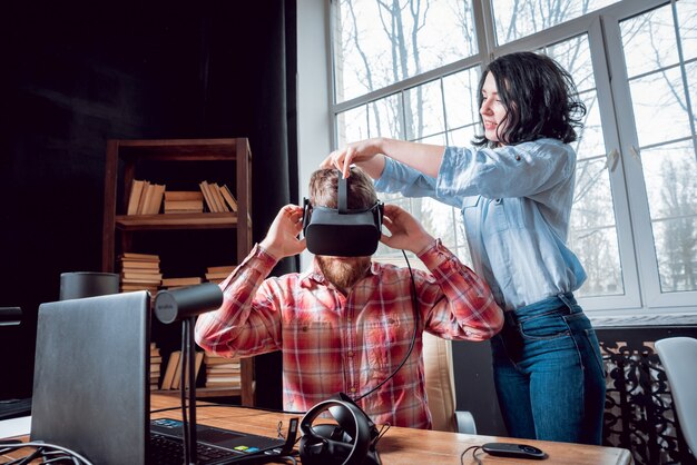
<instances>
[{"instance_id":1,"label":"man's short hair on either side of the headset's top strap","mask_svg":"<svg viewBox=\"0 0 697 465\"><path fill-rule=\"evenodd\" d=\"M310 178L310 202L317 207L337 208L338 177L341 171L334 168L318 169ZM352 167L346 179L347 208L362 210L371 208L377 201L372 179L360 168Z\"/></svg>"}]
</instances>

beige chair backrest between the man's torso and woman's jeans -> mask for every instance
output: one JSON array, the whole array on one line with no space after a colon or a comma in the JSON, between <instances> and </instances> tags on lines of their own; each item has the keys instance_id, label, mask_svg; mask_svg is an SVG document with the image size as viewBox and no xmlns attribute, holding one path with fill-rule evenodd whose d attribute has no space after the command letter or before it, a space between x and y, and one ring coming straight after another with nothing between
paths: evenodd
<instances>
[{"instance_id":1,"label":"beige chair backrest between the man's torso and woman's jeans","mask_svg":"<svg viewBox=\"0 0 697 465\"><path fill-rule=\"evenodd\" d=\"M423 364L433 429L457 432L452 343L423 333Z\"/></svg>"}]
</instances>

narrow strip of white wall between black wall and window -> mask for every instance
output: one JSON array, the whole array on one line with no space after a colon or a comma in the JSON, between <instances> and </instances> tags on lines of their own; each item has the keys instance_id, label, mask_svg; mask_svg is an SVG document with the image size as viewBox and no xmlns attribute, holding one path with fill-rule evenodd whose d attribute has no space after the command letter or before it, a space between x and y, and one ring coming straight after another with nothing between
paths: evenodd
<instances>
[{"instance_id":1,"label":"narrow strip of white wall between black wall and window","mask_svg":"<svg viewBox=\"0 0 697 465\"><path fill-rule=\"evenodd\" d=\"M332 149L328 0L297 0L298 198L307 197L310 175ZM305 269L312 260L301 256Z\"/></svg>"}]
</instances>

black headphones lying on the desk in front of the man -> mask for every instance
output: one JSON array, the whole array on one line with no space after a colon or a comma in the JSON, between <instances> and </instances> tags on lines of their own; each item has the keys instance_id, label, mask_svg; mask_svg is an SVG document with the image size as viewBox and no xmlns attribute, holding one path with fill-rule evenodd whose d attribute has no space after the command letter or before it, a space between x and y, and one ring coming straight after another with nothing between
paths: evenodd
<instances>
[{"instance_id":1,"label":"black headphones lying on the desk in front of the man","mask_svg":"<svg viewBox=\"0 0 697 465\"><path fill-rule=\"evenodd\" d=\"M313 425L328 410L336 421ZM303 465L380 465L375 446L380 432L344 393L312 407L301 421L300 454Z\"/></svg>"}]
</instances>

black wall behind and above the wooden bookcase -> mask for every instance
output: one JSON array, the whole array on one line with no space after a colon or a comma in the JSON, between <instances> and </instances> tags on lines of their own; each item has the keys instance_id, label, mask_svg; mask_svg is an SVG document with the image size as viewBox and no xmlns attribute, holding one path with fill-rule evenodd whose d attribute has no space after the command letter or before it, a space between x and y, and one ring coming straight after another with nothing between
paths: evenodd
<instances>
[{"instance_id":1,"label":"black wall behind and above the wooden bookcase","mask_svg":"<svg viewBox=\"0 0 697 465\"><path fill-rule=\"evenodd\" d=\"M0 8L0 307L24 313L0 327L2 399L31 395L37 309L60 274L101 269L107 139L248 137L255 240L297 200L297 172L294 2ZM266 357L257 395L279 406L279 357Z\"/></svg>"}]
</instances>

